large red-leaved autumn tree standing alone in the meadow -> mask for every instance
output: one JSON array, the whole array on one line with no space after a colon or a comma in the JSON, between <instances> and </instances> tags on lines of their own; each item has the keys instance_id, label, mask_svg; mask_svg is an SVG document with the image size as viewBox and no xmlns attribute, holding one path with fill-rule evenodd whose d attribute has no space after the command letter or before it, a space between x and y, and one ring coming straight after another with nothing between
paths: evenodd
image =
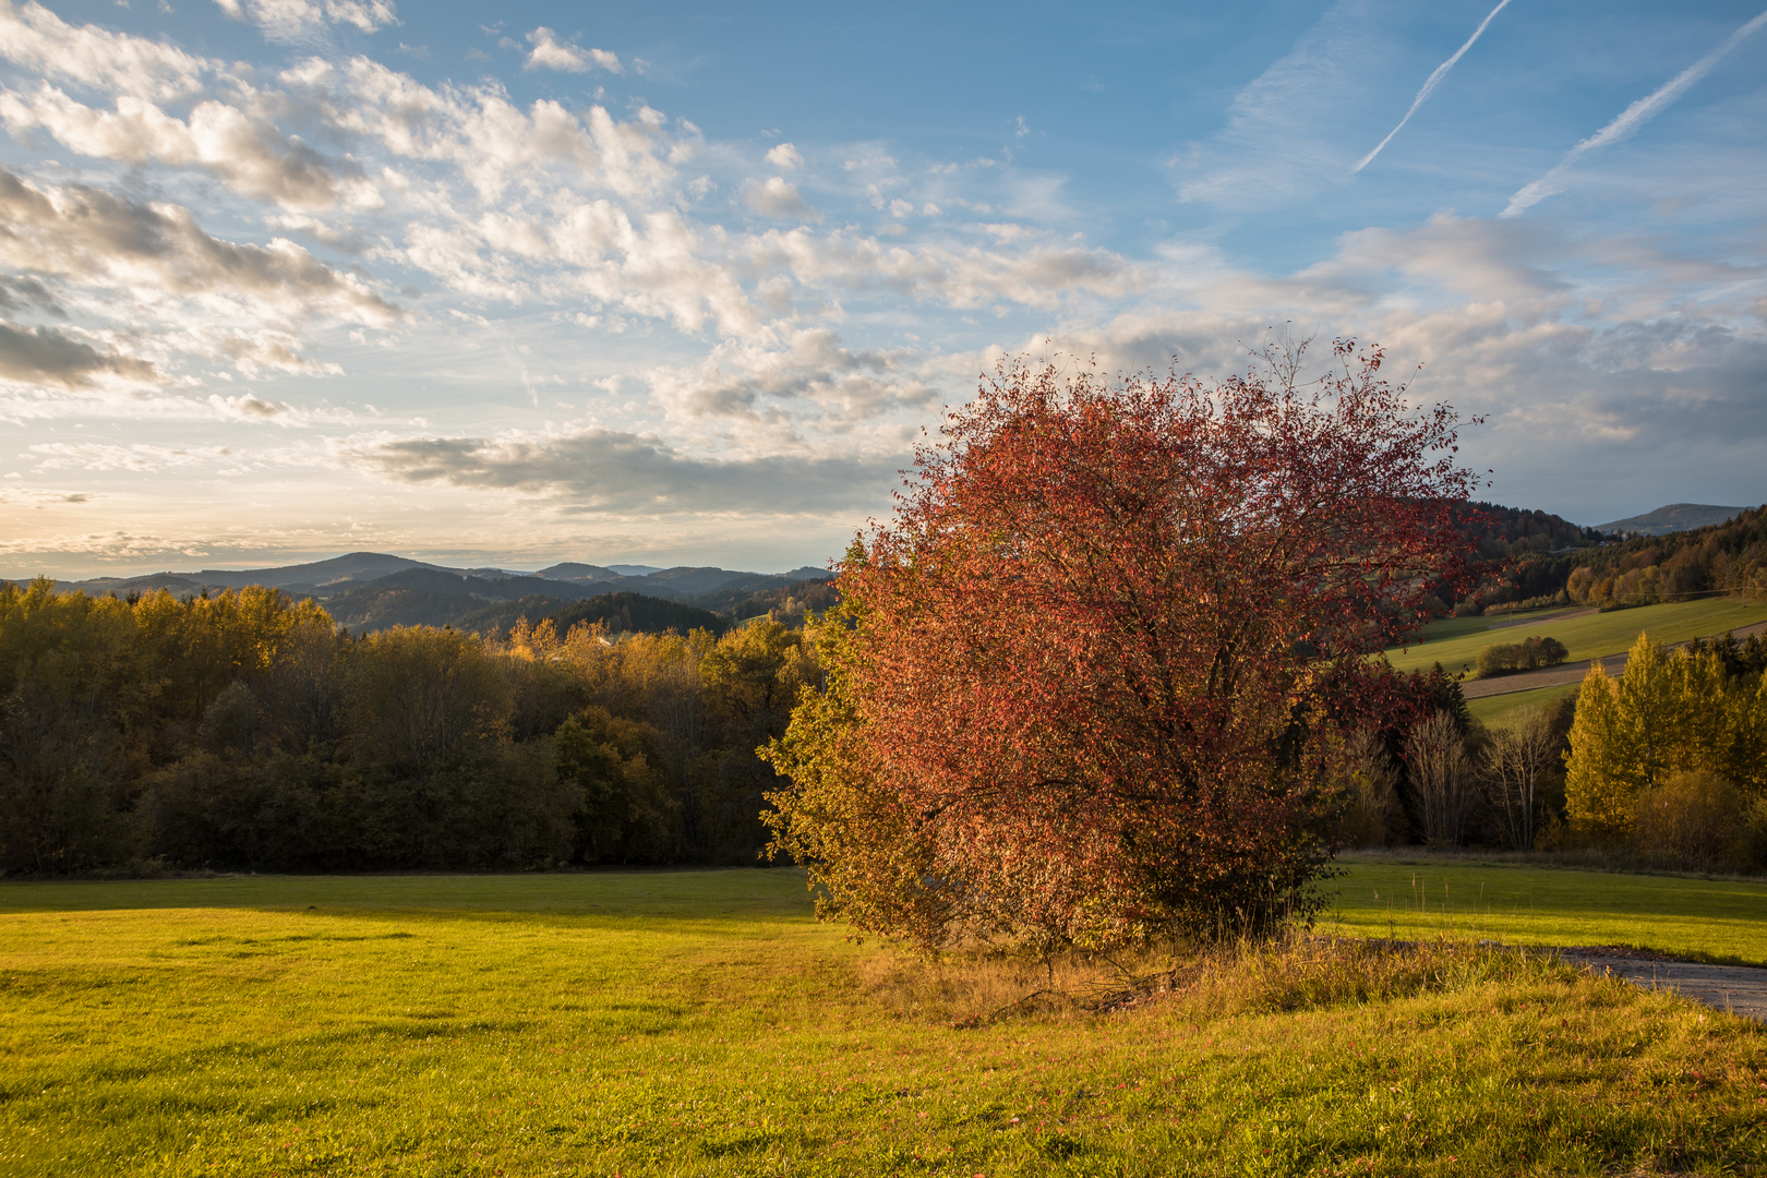
<instances>
[{"instance_id":1,"label":"large red-leaved autumn tree standing alone in the meadow","mask_svg":"<svg viewBox=\"0 0 1767 1178\"><path fill-rule=\"evenodd\" d=\"M1301 389L1014 362L921 447L770 747L825 915L1048 952L1306 908L1329 714L1465 576L1474 487L1451 408L1334 351Z\"/></svg>"}]
</instances>

